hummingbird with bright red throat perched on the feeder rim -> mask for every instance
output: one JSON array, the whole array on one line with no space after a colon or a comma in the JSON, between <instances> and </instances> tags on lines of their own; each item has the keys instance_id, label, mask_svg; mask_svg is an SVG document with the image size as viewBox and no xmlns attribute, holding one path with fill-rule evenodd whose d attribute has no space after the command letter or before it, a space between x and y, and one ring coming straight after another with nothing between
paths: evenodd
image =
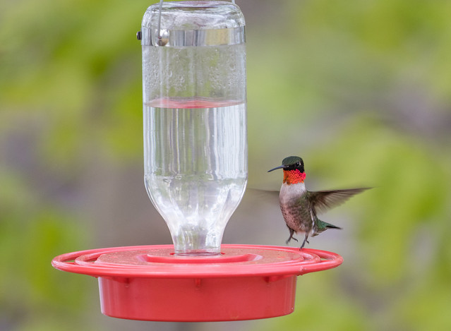
<instances>
[{"instance_id":1,"label":"hummingbird with bright red throat perched on the feeder rim","mask_svg":"<svg viewBox=\"0 0 451 331\"><path fill-rule=\"evenodd\" d=\"M318 219L318 213L341 205L352 195L368 190L368 188L349 188L333 191L307 191L303 181L306 171L301 157L290 156L282 160L282 165L267 172L283 169L284 180L279 193L280 210L289 229L289 238L298 241L293 235L303 234L300 250L308 243L309 236L317 236L327 229L342 229Z\"/></svg>"}]
</instances>

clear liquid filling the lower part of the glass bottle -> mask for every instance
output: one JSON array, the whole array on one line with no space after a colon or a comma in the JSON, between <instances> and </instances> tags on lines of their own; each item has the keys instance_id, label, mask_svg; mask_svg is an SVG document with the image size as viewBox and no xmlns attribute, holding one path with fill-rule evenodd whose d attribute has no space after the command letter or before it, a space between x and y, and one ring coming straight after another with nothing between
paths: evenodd
<instances>
[{"instance_id":1,"label":"clear liquid filling the lower part of the glass bottle","mask_svg":"<svg viewBox=\"0 0 451 331\"><path fill-rule=\"evenodd\" d=\"M175 253L220 253L224 227L246 188L246 104L145 104L144 137L145 187Z\"/></svg>"}]
</instances>

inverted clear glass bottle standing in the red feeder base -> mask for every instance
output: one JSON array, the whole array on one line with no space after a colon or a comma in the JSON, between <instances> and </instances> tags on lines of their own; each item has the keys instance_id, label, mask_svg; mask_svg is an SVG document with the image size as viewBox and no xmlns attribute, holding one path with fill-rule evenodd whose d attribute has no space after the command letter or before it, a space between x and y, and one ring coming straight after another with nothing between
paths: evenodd
<instances>
[{"instance_id":1,"label":"inverted clear glass bottle standing in the red feeder base","mask_svg":"<svg viewBox=\"0 0 451 331\"><path fill-rule=\"evenodd\" d=\"M246 188L244 42L226 1L165 2L143 17L145 187L176 254L219 254Z\"/></svg>"}]
</instances>

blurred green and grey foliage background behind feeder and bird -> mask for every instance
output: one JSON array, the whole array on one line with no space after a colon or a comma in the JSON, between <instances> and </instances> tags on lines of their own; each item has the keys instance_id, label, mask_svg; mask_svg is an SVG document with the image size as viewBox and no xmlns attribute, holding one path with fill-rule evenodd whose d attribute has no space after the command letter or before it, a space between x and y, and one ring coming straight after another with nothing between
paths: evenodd
<instances>
[{"instance_id":1,"label":"blurred green and grey foliage background behind feeder and bird","mask_svg":"<svg viewBox=\"0 0 451 331\"><path fill-rule=\"evenodd\" d=\"M451 330L451 1L237 0L246 16L249 187L287 155L311 190L376 186L322 218L294 313L152 323L100 313L69 251L171 243L143 185L140 44L155 1L0 4L1 330ZM258 210L255 210L258 205ZM246 194L224 243L284 245Z\"/></svg>"}]
</instances>

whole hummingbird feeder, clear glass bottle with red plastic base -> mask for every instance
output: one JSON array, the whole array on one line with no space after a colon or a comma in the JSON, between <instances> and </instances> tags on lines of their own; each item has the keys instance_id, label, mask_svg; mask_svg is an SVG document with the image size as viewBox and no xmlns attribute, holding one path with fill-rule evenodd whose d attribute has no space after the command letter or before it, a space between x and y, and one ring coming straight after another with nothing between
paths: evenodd
<instances>
[{"instance_id":1,"label":"whole hummingbird feeder, clear glass bottle with red plastic base","mask_svg":"<svg viewBox=\"0 0 451 331\"><path fill-rule=\"evenodd\" d=\"M97 277L102 313L155 321L271 318L294 310L296 277L342 257L221 244L247 182L244 18L227 1L160 1L145 12L145 188L174 245L56 256Z\"/></svg>"}]
</instances>

